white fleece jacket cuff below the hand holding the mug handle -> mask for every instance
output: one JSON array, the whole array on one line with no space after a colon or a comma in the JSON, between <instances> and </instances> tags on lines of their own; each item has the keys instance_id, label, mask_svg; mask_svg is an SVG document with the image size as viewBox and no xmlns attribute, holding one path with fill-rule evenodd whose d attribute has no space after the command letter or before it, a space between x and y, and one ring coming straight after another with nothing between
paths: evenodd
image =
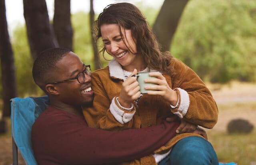
<instances>
[{"instance_id":1,"label":"white fleece jacket cuff below the hand holding the mug handle","mask_svg":"<svg viewBox=\"0 0 256 165\"><path fill-rule=\"evenodd\" d=\"M131 121L132 117L135 114L135 107L132 105L131 109L134 109L133 111L127 111L127 110L122 110L122 106L120 105L120 107L117 105L119 102L117 101L116 97L114 97L112 99L112 102L110 104L110 112L112 113L112 115L115 117L115 119L121 123L128 123L129 121ZM127 108L124 108L127 109ZM130 108L128 108L130 110Z\"/></svg>"}]
</instances>

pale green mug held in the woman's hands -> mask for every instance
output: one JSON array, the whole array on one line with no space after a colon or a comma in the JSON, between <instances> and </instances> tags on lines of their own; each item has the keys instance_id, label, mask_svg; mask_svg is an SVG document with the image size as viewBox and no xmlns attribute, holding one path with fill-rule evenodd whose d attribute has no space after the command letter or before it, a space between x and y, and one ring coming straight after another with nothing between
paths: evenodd
<instances>
[{"instance_id":1,"label":"pale green mug held in the woman's hands","mask_svg":"<svg viewBox=\"0 0 256 165\"><path fill-rule=\"evenodd\" d=\"M152 76L149 76L149 73L150 72L138 72L135 75L137 77L137 81L138 81L139 86L140 86L140 93L147 93L147 91L151 91L151 90L144 89L145 86L156 85L155 83L145 83L144 82L145 79L154 78Z\"/></svg>"}]
</instances>

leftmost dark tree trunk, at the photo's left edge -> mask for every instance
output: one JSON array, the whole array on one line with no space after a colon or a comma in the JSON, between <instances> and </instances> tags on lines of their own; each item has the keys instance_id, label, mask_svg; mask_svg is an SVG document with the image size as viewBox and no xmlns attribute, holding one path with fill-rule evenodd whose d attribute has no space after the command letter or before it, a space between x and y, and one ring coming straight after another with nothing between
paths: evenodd
<instances>
[{"instance_id":1,"label":"leftmost dark tree trunk, at the photo's left edge","mask_svg":"<svg viewBox=\"0 0 256 165\"><path fill-rule=\"evenodd\" d=\"M0 0L0 25L3 117L10 117L10 99L17 96L17 88L14 58L6 21L5 0Z\"/></svg>"}]
</instances>

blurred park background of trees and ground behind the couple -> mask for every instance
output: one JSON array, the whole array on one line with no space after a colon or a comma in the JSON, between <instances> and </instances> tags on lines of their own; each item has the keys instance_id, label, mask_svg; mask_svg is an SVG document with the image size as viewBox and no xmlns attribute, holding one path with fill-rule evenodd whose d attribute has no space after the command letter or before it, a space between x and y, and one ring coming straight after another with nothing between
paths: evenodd
<instances>
[{"instance_id":1,"label":"blurred park background of trees and ground behind the couple","mask_svg":"<svg viewBox=\"0 0 256 165\"><path fill-rule=\"evenodd\" d=\"M12 163L9 99L44 95L32 78L37 54L64 47L92 70L107 66L91 27L103 8L116 2L135 4L162 49L192 68L212 91L219 119L206 131L219 161L256 165L255 0L33 1L0 0L0 165Z\"/></svg>"}]
</instances>

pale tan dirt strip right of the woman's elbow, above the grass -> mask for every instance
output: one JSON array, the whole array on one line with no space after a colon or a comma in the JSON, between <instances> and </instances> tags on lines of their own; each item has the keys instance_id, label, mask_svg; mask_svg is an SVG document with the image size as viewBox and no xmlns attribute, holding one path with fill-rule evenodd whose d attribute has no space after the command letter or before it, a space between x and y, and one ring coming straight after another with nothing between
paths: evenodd
<instances>
[{"instance_id":1,"label":"pale tan dirt strip right of the woman's elbow, above the grass","mask_svg":"<svg viewBox=\"0 0 256 165\"><path fill-rule=\"evenodd\" d=\"M218 122L212 131L226 131L228 122L238 118L248 120L256 128L256 83L232 82L208 87L219 108Z\"/></svg>"}]
</instances>

